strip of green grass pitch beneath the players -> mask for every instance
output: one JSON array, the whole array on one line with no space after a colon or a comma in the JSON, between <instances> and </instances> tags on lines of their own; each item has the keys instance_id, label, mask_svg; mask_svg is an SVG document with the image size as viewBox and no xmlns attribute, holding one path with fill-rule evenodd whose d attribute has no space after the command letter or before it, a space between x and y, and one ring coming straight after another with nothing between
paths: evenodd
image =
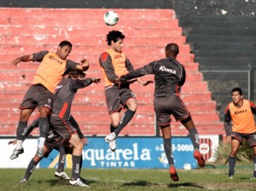
<instances>
[{"instance_id":1,"label":"strip of green grass pitch beneath the players","mask_svg":"<svg viewBox=\"0 0 256 191\"><path fill-rule=\"evenodd\" d=\"M213 167L213 166L212 166ZM81 177L90 188L78 188L54 177L54 169L37 169L27 184L20 184L25 169L0 169L0 190L255 190L256 180L250 180L253 165L237 166L233 180L227 178L227 166L191 171L177 170L180 181L172 182L168 170L82 169ZM71 170L66 170L71 175Z\"/></svg>"}]
</instances>

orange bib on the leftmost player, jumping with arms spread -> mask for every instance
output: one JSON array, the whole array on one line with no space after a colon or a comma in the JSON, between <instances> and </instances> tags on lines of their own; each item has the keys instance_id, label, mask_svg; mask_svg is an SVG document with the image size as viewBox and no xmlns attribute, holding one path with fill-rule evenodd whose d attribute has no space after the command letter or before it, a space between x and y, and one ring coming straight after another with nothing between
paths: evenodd
<instances>
[{"instance_id":1,"label":"orange bib on the leftmost player, jumping with arms spread","mask_svg":"<svg viewBox=\"0 0 256 191\"><path fill-rule=\"evenodd\" d=\"M41 61L32 84L43 84L50 92L55 93L55 87L63 78L66 66L67 60L49 52Z\"/></svg>"}]
</instances>

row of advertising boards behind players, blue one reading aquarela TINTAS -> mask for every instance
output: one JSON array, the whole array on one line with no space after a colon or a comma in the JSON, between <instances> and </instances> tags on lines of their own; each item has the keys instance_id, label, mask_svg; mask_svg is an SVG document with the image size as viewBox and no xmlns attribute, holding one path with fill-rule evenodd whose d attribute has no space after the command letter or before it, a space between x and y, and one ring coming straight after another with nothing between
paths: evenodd
<instances>
[{"instance_id":1,"label":"row of advertising boards behind players, blue one reading aquarela TINTAS","mask_svg":"<svg viewBox=\"0 0 256 191\"><path fill-rule=\"evenodd\" d=\"M83 150L83 168L168 168L162 137L118 137L117 149L112 152L104 137L88 137L89 143ZM10 139L0 139L3 158L0 168L26 168L35 155L38 139L27 139L23 146L25 153L17 159L9 159L15 146L9 146ZM218 136L200 136L200 152L208 161L214 160L214 151L218 147ZM193 157L194 148L188 136L172 137L174 163L177 169L195 169L198 167ZM56 168L59 153L53 150L49 157L42 159L38 168ZM66 167L72 168L72 157L67 154Z\"/></svg>"}]
</instances>

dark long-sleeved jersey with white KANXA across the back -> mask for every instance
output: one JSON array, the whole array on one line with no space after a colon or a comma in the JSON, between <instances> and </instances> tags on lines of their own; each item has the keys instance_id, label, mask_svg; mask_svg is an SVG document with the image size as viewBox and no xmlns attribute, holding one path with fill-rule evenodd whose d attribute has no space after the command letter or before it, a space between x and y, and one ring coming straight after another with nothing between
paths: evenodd
<instances>
[{"instance_id":1,"label":"dark long-sleeved jersey with white KANXA across the back","mask_svg":"<svg viewBox=\"0 0 256 191\"><path fill-rule=\"evenodd\" d=\"M175 59L167 58L160 61L153 61L144 67L122 76L120 82L147 74L154 74L155 97L165 97L173 93L179 93L181 86L183 86L186 80L186 72L183 65Z\"/></svg>"}]
</instances>

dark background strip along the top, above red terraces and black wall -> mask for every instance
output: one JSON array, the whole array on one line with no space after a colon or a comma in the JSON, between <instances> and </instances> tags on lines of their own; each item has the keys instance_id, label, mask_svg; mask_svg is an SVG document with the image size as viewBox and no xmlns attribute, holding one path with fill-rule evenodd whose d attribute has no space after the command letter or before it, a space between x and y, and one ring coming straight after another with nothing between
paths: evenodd
<instances>
[{"instance_id":1,"label":"dark background strip along the top, above red terraces and black wall","mask_svg":"<svg viewBox=\"0 0 256 191\"><path fill-rule=\"evenodd\" d=\"M1 0L0 7L175 9L177 14L232 14L252 17L256 14L254 0Z\"/></svg>"}]
</instances>

